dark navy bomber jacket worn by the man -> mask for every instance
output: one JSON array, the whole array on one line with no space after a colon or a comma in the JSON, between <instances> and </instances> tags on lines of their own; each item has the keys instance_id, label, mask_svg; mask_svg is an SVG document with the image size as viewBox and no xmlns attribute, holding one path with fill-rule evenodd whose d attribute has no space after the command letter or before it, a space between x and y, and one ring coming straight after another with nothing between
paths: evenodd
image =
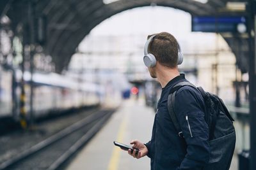
<instances>
[{"instance_id":1,"label":"dark navy bomber jacket worn by the man","mask_svg":"<svg viewBox=\"0 0 256 170\"><path fill-rule=\"evenodd\" d=\"M146 146L151 170L202 169L209 160L209 129L204 119L205 105L200 92L193 87L180 88L175 97L174 111L184 138L178 136L168 113L170 89L184 74L173 78L163 89L157 104L152 138Z\"/></svg>"}]
</instances>

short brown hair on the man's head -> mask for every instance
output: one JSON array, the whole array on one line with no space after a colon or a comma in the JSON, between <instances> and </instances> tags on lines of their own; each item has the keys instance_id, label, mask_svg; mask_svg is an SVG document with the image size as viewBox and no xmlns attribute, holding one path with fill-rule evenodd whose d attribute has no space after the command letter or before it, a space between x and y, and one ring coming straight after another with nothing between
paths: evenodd
<instances>
[{"instance_id":1,"label":"short brown hair on the man's head","mask_svg":"<svg viewBox=\"0 0 256 170\"><path fill-rule=\"evenodd\" d=\"M174 36L168 32L160 32L149 35L148 39L151 36L154 38L148 45L148 53L152 53L161 65L170 68L176 67L180 47Z\"/></svg>"}]
</instances>

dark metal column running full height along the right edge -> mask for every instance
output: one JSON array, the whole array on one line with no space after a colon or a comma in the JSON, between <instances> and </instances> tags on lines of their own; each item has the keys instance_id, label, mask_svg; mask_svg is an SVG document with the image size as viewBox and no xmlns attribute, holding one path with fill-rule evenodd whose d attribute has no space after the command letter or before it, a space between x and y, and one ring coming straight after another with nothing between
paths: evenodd
<instances>
[{"instance_id":1,"label":"dark metal column running full height along the right edge","mask_svg":"<svg viewBox=\"0 0 256 170\"><path fill-rule=\"evenodd\" d=\"M250 96L250 169L256 169L256 55L255 55L255 0L250 0L249 41L250 41L250 69L249 69L249 96Z\"/></svg>"}]
</instances>

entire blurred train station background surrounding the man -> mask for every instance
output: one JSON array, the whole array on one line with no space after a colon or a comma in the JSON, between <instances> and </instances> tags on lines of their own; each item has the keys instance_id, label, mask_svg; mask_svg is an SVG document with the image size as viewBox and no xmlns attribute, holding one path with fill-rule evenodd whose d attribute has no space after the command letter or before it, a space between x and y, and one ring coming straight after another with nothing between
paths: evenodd
<instances>
[{"instance_id":1,"label":"entire blurred train station background surrounding the man","mask_svg":"<svg viewBox=\"0 0 256 170\"><path fill-rule=\"evenodd\" d=\"M0 169L149 169L113 141L150 140L161 86L143 47L156 32L177 38L180 73L235 119L230 169L256 169L255 9L245 0L1 0Z\"/></svg>"}]
</instances>

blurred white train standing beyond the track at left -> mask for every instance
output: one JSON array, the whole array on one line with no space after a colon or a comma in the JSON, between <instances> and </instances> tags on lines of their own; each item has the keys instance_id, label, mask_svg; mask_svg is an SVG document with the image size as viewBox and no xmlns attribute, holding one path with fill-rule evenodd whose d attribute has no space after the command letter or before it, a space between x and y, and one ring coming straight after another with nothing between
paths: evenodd
<instances>
[{"instance_id":1,"label":"blurred white train standing beyond the track at left","mask_svg":"<svg viewBox=\"0 0 256 170\"><path fill-rule=\"evenodd\" d=\"M35 72L32 76L25 71L25 111L30 113L30 94L33 85L33 117L41 118L53 113L104 102L104 87L99 83L70 78L57 73ZM0 66L0 118L12 117L19 120L22 71L10 66Z\"/></svg>"}]
</instances>

